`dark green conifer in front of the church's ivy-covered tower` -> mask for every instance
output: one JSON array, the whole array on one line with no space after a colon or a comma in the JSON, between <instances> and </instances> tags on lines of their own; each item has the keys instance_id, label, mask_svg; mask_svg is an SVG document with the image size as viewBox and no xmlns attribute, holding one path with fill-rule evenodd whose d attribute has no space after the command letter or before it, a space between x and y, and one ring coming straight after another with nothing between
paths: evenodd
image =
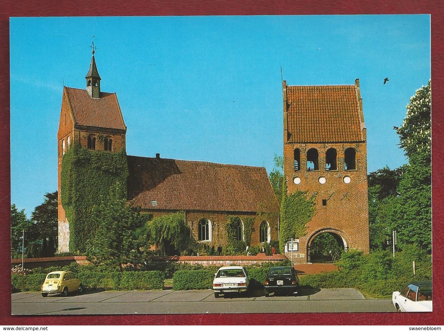
<instances>
[{"instance_id":1,"label":"dark green conifer in front of the church's ivy-covered tower","mask_svg":"<svg viewBox=\"0 0 444 331\"><path fill-rule=\"evenodd\" d=\"M94 245L99 263L122 271L123 264L136 265L145 260L149 232L144 225L149 215L128 205L120 183L92 209L92 217L99 224Z\"/></svg>"}]
</instances>

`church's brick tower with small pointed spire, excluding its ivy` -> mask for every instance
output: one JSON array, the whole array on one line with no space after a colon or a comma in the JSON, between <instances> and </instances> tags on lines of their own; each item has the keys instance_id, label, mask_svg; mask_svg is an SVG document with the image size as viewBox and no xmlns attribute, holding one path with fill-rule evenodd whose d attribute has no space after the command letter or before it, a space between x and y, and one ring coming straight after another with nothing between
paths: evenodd
<instances>
[{"instance_id":1,"label":"church's brick tower with small pointed spire, excluding its ivy","mask_svg":"<svg viewBox=\"0 0 444 331\"><path fill-rule=\"evenodd\" d=\"M119 153L126 148L127 127L123 121L117 95L100 91L100 75L95 63L94 42L92 58L86 75L86 89L63 86L58 150L58 220L59 252L69 252L70 232L65 209L62 206L63 156L77 144L80 148L106 153Z\"/></svg>"}]
</instances>

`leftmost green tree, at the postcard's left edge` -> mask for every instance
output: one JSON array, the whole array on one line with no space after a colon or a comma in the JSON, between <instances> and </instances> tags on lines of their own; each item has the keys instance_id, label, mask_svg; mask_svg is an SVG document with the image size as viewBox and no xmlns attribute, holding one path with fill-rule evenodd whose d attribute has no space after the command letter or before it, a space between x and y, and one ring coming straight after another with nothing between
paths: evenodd
<instances>
[{"instance_id":1,"label":"leftmost green tree, at the postcard's left edge","mask_svg":"<svg viewBox=\"0 0 444 331\"><path fill-rule=\"evenodd\" d=\"M17 210L15 204L11 205L11 257L18 258L22 255L22 237L25 230L24 242L28 245L27 232L31 227L31 221L25 215L25 210Z\"/></svg>"}]
</instances>

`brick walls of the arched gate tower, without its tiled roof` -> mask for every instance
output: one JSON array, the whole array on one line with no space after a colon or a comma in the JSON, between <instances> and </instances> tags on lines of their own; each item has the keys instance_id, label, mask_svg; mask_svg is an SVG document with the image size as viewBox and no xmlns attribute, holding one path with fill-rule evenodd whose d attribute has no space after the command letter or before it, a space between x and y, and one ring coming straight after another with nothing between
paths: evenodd
<instances>
[{"instance_id":1,"label":"brick walls of the arched gate tower, without its tiled roof","mask_svg":"<svg viewBox=\"0 0 444 331\"><path fill-rule=\"evenodd\" d=\"M357 87L359 88L358 81ZM359 100L359 103L362 105L361 100ZM284 117L287 116L287 109L284 95ZM364 141L361 142L297 143L287 142L289 134L285 130L286 121L287 119L284 118L284 175L288 194L297 190L308 191L309 196L316 194L316 214L308 223L306 235L299 238L299 251L293 252L293 260L296 263L309 262L308 247L312 240L322 232L330 232L340 236L345 249L358 248L364 253L369 253L365 127L361 126L362 137L364 138ZM307 151L311 148L315 148L319 155L318 170L307 169ZM335 170L326 170L325 166L325 155L330 148L337 152L337 169ZM353 148L356 151L355 169L345 170L345 150L347 148ZM300 150L300 168L297 171L295 171L294 166L295 149ZM320 183L321 177L325 178L324 184ZM349 178L348 183L345 177ZM295 178L298 179L295 180Z\"/></svg>"}]
</instances>

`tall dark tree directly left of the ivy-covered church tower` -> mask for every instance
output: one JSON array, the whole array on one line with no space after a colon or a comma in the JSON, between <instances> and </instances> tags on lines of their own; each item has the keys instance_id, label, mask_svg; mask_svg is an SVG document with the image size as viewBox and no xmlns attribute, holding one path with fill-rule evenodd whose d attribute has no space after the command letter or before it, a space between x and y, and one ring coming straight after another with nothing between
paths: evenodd
<instances>
[{"instance_id":1,"label":"tall dark tree directly left of the ivy-covered church tower","mask_svg":"<svg viewBox=\"0 0 444 331\"><path fill-rule=\"evenodd\" d=\"M46 193L44 202L31 215L28 257L54 256L58 236L58 192Z\"/></svg>"}]
</instances>

